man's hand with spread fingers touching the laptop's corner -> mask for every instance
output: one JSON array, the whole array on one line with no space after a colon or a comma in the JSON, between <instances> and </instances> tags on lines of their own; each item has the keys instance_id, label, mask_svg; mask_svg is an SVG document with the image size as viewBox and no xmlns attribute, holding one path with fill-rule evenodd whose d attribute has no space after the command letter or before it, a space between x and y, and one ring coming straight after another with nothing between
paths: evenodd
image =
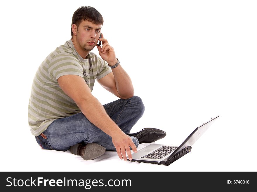
<instances>
[{"instance_id":1,"label":"man's hand with spread fingers touching the laptop's corner","mask_svg":"<svg viewBox=\"0 0 257 192\"><path fill-rule=\"evenodd\" d=\"M133 150L133 152L137 152L136 145L133 143L131 137L126 135L125 133L116 134L112 137L112 143L114 147L116 148L117 154L120 159L124 159L124 161L127 161L127 155L129 157L129 160L132 160L132 155L130 151L130 147Z\"/></svg>"}]
</instances>

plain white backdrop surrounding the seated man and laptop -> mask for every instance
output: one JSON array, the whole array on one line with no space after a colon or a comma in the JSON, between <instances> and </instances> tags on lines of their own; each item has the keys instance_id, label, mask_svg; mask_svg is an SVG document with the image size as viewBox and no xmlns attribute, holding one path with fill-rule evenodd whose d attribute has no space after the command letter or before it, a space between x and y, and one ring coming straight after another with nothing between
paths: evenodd
<instances>
[{"instance_id":1,"label":"plain white backdrop surrounding the seated man and laptop","mask_svg":"<svg viewBox=\"0 0 257 192\"><path fill-rule=\"evenodd\" d=\"M159 128L167 135L155 143L179 145L220 115L191 153L164 166L121 161L116 152L84 161L69 151L41 150L27 122L32 80L47 55L70 39L80 6L103 15L102 32L145 104L131 132ZM0 7L1 171L257 171L256 1L1 1ZM97 82L92 94L102 104L117 99Z\"/></svg>"}]
</instances>

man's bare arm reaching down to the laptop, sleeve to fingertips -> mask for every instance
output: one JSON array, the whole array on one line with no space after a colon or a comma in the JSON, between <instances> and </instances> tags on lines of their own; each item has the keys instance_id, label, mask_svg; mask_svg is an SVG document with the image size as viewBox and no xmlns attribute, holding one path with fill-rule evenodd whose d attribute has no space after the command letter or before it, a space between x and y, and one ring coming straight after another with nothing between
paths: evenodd
<instances>
[{"instance_id":1,"label":"man's bare arm reaching down to the laptop, sleeve to fingertips","mask_svg":"<svg viewBox=\"0 0 257 192\"><path fill-rule=\"evenodd\" d=\"M126 161L126 151L132 159L130 147L137 151L132 139L107 115L101 103L91 94L85 80L78 75L63 75L58 78L60 88L78 105L81 112L95 126L112 137L112 142L120 159ZM125 151L126 150L126 151Z\"/></svg>"}]
</instances>

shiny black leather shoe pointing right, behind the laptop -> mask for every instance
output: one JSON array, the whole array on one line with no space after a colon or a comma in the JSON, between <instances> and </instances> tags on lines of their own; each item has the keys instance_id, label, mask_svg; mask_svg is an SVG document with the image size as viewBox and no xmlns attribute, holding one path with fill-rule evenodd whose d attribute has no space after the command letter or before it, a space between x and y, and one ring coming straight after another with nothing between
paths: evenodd
<instances>
[{"instance_id":1,"label":"shiny black leather shoe pointing right, behind the laptop","mask_svg":"<svg viewBox=\"0 0 257 192\"><path fill-rule=\"evenodd\" d=\"M137 133L128 133L127 135L134 136L140 143L151 143L162 139L166 136L166 133L160 129L155 128L144 128Z\"/></svg>"}]
</instances>

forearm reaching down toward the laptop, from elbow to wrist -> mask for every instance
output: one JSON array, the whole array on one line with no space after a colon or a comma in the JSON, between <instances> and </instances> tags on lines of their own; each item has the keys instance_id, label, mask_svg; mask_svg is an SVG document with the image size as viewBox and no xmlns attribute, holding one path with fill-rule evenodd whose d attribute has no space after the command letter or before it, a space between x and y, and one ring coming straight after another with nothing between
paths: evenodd
<instances>
[{"instance_id":1,"label":"forearm reaching down toward the laptop, from elbow to wrist","mask_svg":"<svg viewBox=\"0 0 257 192\"><path fill-rule=\"evenodd\" d=\"M93 95L81 99L77 105L86 118L107 135L113 137L113 135L121 132L119 126L112 121L101 103Z\"/></svg>"}]
</instances>

